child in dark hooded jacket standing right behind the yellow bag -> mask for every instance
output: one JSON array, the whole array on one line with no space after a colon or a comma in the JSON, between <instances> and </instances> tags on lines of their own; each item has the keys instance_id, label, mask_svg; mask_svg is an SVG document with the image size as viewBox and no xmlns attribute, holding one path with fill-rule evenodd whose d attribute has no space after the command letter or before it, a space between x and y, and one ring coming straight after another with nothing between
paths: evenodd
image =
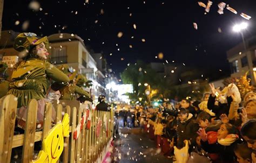
<instances>
[{"instance_id":1,"label":"child in dark hooded jacket standing right behind the yellow bag","mask_svg":"<svg viewBox=\"0 0 256 163\"><path fill-rule=\"evenodd\" d=\"M177 128L178 133L178 148L184 146L184 140L190 141L190 147L196 145L198 123L193 119L193 115L187 109L179 109L179 123Z\"/></svg>"}]
</instances>

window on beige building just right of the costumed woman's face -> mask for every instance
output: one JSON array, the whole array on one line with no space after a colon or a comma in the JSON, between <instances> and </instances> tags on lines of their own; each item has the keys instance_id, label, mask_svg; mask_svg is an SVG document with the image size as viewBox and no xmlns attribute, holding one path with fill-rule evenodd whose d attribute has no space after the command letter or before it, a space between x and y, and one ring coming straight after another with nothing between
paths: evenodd
<instances>
[{"instance_id":1,"label":"window on beige building just right of the costumed woman's face","mask_svg":"<svg viewBox=\"0 0 256 163\"><path fill-rule=\"evenodd\" d=\"M66 47L53 47L51 54L51 62L54 64L62 64L67 62Z\"/></svg>"}]
</instances>

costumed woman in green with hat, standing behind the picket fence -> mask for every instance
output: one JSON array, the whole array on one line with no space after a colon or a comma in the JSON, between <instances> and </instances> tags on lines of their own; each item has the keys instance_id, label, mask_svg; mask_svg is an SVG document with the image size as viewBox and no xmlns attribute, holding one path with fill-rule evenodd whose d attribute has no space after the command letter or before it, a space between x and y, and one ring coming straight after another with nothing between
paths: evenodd
<instances>
[{"instance_id":1,"label":"costumed woman in green with hat, standing behind the picket fence","mask_svg":"<svg viewBox=\"0 0 256 163\"><path fill-rule=\"evenodd\" d=\"M47 37L37 38L35 33L18 34L14 41L16 51L28 53L23 61L14 66L11 76L8 94L15 95L17 105L17 125L25 128L26 107L29 100L35 99L38 102L37 127L42 128L44 118L45 95L50 87L50 79L62 84L69 82L69 77L58 68L46 61L49 41ZM55 118L55 110L52 110L52 119ZM40 124L40 125L39 125Z\"/></svg>"}]
</instances>

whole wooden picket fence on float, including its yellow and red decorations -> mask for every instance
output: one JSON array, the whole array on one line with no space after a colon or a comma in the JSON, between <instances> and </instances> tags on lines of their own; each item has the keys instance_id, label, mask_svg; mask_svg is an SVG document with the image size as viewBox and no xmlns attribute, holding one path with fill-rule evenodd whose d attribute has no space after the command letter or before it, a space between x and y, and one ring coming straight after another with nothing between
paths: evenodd
<instances>
[{"instance_id":1,"label":"whole wooden picket fence on float, including its yellow and red decorations","mask_svg":"<svg viewBox=\"0 0 256 163\"><path fill-rule=\"evenodd\" d=\"M37 101L30 100L26 117L26 122L29 123L26 123L24 134L14 136L17 98L13 95L1 98L0 162L10 162L12 148L21 146L23 147L21 162L41 162L36 159L33 160L34 144L37 141L43 142L43 149L38 154L41 159L45 157L45 160L51 159L52 162L72 163L102 162L112 141L113 112L88 110L86 108L85 104L80 104L78 109L76 107L70 108L69 102L66 102L64 107L62 104L57 104L57 107L55 107L56 121L53 125L51 122L52 104L46 103L43 130L36 131ZM70 117L70 115L72 116ZM68 136L65 136L64 130L67 129L67 126L69 129L67 130ZM62 134L63 137L61 137ZM56 136L58 139L53 139ZM51 143L45 144L49 138ZM61 140L61 138L64 140ZM59 141L56 142L56 140ZM60 141L63 141L63 144ZM55 143L57 145L53 148L52 146ZM58 150L60 153L58 153ZM47 151L51 151L51 153L47 155ZM58 154L59 156L61 154L61 156L57 157ZM56 158L58 160L54 160Z\"/></svg>"}]
</instances>

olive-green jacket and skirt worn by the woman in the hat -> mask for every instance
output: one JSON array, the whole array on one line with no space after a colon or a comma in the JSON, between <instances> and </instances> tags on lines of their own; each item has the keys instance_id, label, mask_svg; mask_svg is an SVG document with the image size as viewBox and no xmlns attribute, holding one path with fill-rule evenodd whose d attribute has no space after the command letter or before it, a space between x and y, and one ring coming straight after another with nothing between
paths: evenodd
<instances>
[{"instance_id":1,"label":"olive-green jacket and skirt worn by the woman in the hat","mask_svg":"<svg viewBox=\"0 0 256 163\"><path fill-rule=\"evenodd\" d=\"M22 61L11 79L8 94L18 97L18 108L27 106L30 99L45 98L50 86L49 79L63 84L69 82L69 77L51 63L35 58Z\"/></svg>"}]
</instances>

